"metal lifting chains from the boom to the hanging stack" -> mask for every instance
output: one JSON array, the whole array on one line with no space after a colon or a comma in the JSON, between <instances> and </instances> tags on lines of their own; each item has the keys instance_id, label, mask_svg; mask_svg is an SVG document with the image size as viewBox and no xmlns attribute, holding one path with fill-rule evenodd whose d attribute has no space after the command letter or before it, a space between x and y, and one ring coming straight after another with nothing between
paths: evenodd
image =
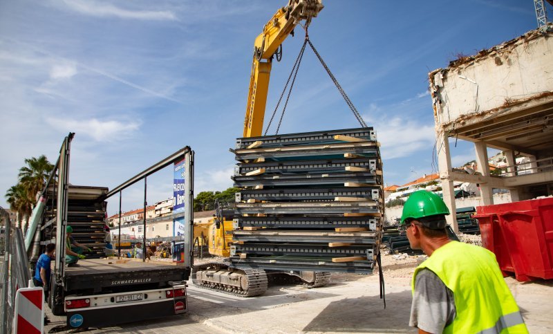
<instances>
[{"instance_id":1,"label":"metal lifting chains from the boom to the hanging stack","mask_svg":"<svg viewBox=\"0 0 553 334\"><path fill-rule=\"evenodd\" d=\"M330 76L330 79L332 80L332 82L334 82L334 84L335 84L336 88L338 89L338 91L340 92L341 96L346 101L346 104L348 104L348 106L350 107L350 110L353 112L353 115L355 115L355 118L357 118L357 121L359 122L359 124L361 124L361 127L367 127L367 124L363 120L362 115L359 113L359 111L357 111L357 109L353 105L353 102L351 102L350 98L348 97L348 95L346 94L344 89L341 88L340 84L338 83L338 80L332 74L332 72L330 71L330 68L328 68L328 66L324 62L323 58L321 57L321 55L319 55L319 52L317 52L317 49L315 48L315 46L313 46L313 44L311 43L311 41L309 39L309 35L308 35L308 29L307 29L308 25L304 26L303 28L306 30L306 39L305 39L305 41L303 41L303 46L301 46L301 50L299 50L299 55L296 58L296 62L294 63L294 66L292 67L292 71L290 72L290 75L288 76L288 80L286 81L286 84L284 85L284 89L283 89L283 91L281 93L281 96L279 98L279 102L277 102L277 106L275 106L274 111L272 112L271 119L269 121L269 124L267 125L267 129L265 129L265 133L263 134L263 136L267 136L267 133L269 131L269 128L271 127L272 121L274 120L274 115L277 114L277 110L279 109L279 106L281 104L284 93L285 93L286 89L288 88L288 84L290 84L290 79L292 79L292 76L293 76L292 84L290 84L290 89L288 90L288 95L286 95L286 101L284 103L282 113L281 113L281 117L279 119L279 125L277 126L276 134L279 134L279 129L280 129L281 124L282 124L282 119L284 117L284 112L286 111L286 106L288 106L288 100L290 99L290 94L292 93L292 88L294 87L294 82L296 81L296 76L298 74L299 65L301 63L301 59L303 58L303 52L306 50L306 45L307 44L309 44L309 46L311 47L311 49L313 50L315 55L317 55L317 58L319 59L319 62L321 62L321 64L323 65L324 69L326 70L326 73L328 73L328 75Z\"/></svg>"}]
</instances>

